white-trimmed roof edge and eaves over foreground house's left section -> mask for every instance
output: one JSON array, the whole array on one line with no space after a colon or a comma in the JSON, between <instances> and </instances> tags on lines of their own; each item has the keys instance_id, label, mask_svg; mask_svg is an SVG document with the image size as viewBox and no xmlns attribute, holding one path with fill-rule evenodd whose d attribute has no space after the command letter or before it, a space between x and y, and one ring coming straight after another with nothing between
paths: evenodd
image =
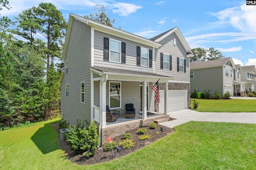
<instances>
[{"instance_id":1,"label":"white-trimmed roof edge and eaves over foreground house's left section","mask_svg":"<svg viewBox=\"0 0 256 170\"><path fill-rule=\"evenodd\" d=\"M122 37L124 39L128 39L130 41L135 41L138 43L142 43L144 45L148 45L150 47L155 47L158 48L160 47L162 44L156 42L156 41L152 41L150 39L146 39L144 37L140 37L138 35L129 33L127 31L123 31L121 29L117 29L108 25L104 25L102 23L98 23L96 21L90 20L88 18L84 18L75 14L69 14L69 18L68 18L68 27L67 27L67 31L66 31L66 37L65 37L65 43L64 43L64 48L63 48L63 53L62 53L62 61L65 61L66 58L66 51L68 48L68 41L69 41L69 37L70 37L70 32L71 32L71 28L72 28L72 23L73 20L76 19L78 21L81 21L83 23L85 23L86 25L94 28L95 30L98 31L102 31L111 35L116 35L118 37Z\"/></svg>"}]
</instances>

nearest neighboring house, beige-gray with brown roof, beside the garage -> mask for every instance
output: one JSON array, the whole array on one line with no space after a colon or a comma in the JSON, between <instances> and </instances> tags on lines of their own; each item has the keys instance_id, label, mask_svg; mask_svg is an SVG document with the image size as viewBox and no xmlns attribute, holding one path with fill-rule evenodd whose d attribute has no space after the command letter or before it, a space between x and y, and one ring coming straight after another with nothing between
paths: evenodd
<instances>
[{"instance_id":1,"label":"nearest neighboring house, beige-gray with brown roof, beside the garage","mask_svg":"<svg viewBox=\"0 0 256 170\"><path fill-rule=\"evenodd\" d=\"M213 96L217 90L222 97L230 91L233 96L235 69L236 66L231 57L211 61L193 61L190 63L190 91L208 92L210 90Z\"/></svg>"}]
</instances>

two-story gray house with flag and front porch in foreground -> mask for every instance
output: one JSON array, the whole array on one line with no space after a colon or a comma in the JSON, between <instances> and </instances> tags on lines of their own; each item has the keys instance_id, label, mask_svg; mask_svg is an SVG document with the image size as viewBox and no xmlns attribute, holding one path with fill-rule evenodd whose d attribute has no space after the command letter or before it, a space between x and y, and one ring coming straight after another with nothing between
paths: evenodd
<instances>
[{"instance_id":1,"label":"two-story gray house with flag and front porch in foreground","mask_svg":"<svg viewBox=\"0 0 256 170\"><path fill-rule=\"evenodd\" d=\"M190 56L192 51L178 27L146 39L70 14L62 54L65 68L59 80L62 118L70 125L78 119L96 121L104 142L108 135L151 120L148 111L167 115L188 108ZM158 80L161 101L156 110L151 87ZM142 113L141 120L122 124L119 118L115 127L106 122L106 105L123 109L124 114L128 103L134 104L136 115Z\"/></svg>"}]
</instances>

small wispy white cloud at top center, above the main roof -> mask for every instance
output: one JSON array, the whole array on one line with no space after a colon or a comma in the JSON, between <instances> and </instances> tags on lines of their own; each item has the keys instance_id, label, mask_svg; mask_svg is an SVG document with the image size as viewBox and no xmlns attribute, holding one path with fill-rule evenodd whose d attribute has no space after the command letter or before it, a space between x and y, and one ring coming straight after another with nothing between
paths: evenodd
<instances>
[{"instance_id":1,"label":"small wispy white cloud at top center, above the main roof","mask_svg":"<svg viewBox=\"0 0 256 170\"><path fill-rule=\"evenodd\" d=\"M111 5L114 6L114 8L118 8L116 10L112 10L112 12L114 14L118 13L120 16L127 16L142 8L142 6L122 2L116 2L115 4Z\"/></svg>"}]
</instances>

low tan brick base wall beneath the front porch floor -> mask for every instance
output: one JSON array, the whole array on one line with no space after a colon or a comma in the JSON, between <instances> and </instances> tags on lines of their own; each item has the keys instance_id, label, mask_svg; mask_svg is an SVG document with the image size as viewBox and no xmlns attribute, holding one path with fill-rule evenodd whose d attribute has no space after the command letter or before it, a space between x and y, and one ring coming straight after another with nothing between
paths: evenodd
<instances>
[{"instance_id":1,"label":"low tan brick base wall beneath the front porch floor","mask_svg":"<svg viewBox=\"0 0 256 170\"><path fill-rule=\"evenodd\" d=\"M149 125L150 123L154 122L154 120L162 118L169 119L169 115L158 115L148 117L147 119L137 119L134 121L108 125L107 127L102 128L101 131L102 145L108 141L109 136L112 136L114 140L115 137L122 135L123 133L129 133L129 131L132 129L139 129L140 127Z\"/></svg>"}]
</instances>

